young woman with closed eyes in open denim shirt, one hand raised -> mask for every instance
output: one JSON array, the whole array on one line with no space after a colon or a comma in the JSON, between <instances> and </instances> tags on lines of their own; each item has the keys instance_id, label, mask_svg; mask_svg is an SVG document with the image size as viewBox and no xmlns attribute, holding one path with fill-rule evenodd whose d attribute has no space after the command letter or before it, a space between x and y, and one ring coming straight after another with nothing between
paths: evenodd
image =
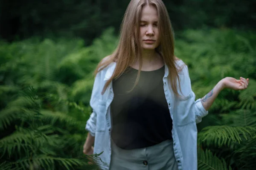
<instances>
[{"instance_id":1,"label":"young woman with closed eyes in open denim shirt, one hand raised","mask_svg":"<svg viewBox=\"0 0 256 170\"><path fill-rule=\"evenodd\" d=\"M83 152L103 151L106 170L197 170L196 123L222 89L248 82L224 78L195 101L162 0L131 0L116 51L96 68Z\"/></svg>"}]
</instances>

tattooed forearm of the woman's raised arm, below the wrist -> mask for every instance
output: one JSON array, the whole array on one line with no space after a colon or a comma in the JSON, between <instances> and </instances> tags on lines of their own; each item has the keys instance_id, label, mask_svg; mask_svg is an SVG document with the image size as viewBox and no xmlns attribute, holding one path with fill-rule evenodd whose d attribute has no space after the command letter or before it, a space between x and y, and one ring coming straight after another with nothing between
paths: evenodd
<instances>
[{"instance_id":1,"label":"tattooed forearm of the woman's raised arm, below the wrist","mask_svg":"<svg viewBox=\"0 0 256 170\"><path fill-rule=\"evenodd\" d=\"M219 81L218 84L216 84L216 86L209 93L207 93L207 95L201 98L204 109L209 110L215 98L217 98L222 89L224 89L224 84L222 81Z\"/></svg>"}]
</instances>

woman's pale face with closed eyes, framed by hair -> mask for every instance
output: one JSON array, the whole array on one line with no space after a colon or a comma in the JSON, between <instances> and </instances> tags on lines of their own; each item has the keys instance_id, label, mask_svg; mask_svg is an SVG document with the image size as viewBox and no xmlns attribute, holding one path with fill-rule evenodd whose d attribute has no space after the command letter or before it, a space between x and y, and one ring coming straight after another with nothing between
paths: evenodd
<instances>
[{"instance_id":1,"label":"woman's pale face with closed eyes, framed by hair","mask_svg":"<svg viewBox=\"0 0 256 170\"><path fill-rule=\"evenodd\" d=\"M143 49L155 49L159 45L157 9L144 6L140 18L140 44Z\"/></svg>"}]
</instances>

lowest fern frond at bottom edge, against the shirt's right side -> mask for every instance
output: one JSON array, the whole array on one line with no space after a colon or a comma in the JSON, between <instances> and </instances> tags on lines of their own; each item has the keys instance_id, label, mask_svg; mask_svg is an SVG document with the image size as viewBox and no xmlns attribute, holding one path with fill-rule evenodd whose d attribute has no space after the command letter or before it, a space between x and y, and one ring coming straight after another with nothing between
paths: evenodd
<instances>
[{"instance_id":1,"label":"lowest fern frond at bottom edge, against the shirt's right side","mask_svg":"<svg viewBox=\"0 0 256 170\"><path fill-rule=\"evenodd\" d=\"M198 149L198 170L231 170L224 159L213 156L210 150Z\"/></svg>"}]
</instances>

